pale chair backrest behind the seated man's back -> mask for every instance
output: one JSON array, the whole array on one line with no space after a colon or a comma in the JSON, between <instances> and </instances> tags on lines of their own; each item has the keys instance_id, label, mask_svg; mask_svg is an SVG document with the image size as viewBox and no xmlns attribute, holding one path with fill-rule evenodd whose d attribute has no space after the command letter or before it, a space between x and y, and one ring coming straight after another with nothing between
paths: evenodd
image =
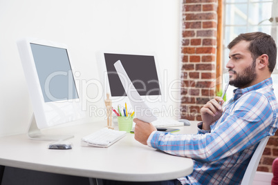
<instances>
[{"instance_id":1,"label":"pale chair backrest behind the seated man's back","mask_svg":"<svg viewBox=\"0 0 278 185\"><path fill-rule=\"evenodd\" d=\"M261 155L263 154L263 150L266 147L266 144L268 143L268 139L269 136L261 139L261 142L259 143L256 150L254 151L254 154L250 159L250 162L246 168L243 179L241 181L242 185L249 185L249 184L252 185L254 175L257 171L257 167L259 165Z\"/></svg>"}]
</instances>

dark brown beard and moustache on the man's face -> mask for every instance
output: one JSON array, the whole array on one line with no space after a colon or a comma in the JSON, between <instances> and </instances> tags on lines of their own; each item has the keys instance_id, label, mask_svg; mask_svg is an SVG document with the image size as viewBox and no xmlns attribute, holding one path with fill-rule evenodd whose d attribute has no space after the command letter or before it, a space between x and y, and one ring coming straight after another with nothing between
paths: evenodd
<instances>
[{"instance_id":1,"label":"dark brown beard and moustache on the man's face","mask_svg":"<svg viewBox=\"0 0 278 185\"><path fill-rule=\"evenodd\" d=\"M234 74L237 75L235 79L230 80L230 85L236 88L242 88L251 84L252 81L254 81L254 79L257 77L257 72L255 68L256 68L256 63L255 61L253 61L248 68L245 68L243 70L243 72L237 73L236 71L229 69L229 71L232 71L234 72Z\"/></svg>"}]
</instances>

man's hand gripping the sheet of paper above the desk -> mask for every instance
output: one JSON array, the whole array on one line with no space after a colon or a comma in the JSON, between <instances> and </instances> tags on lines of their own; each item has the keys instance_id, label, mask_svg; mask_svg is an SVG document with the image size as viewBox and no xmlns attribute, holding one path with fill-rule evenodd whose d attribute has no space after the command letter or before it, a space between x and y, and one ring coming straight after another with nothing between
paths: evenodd
<instances>
[{"instance_id":1,"label":"man's hand gripping the sheet of paper above the desk","mask_svg":"<svg viewBox=\"0 0 278 185\"><path fill-rule=\"evenodd\" d=\"M136 123L134 128L134 138L141 144L147 145L147 139L149 138L149 135L156 130L156 127L154 127L153 124L146 123L137 118L134 118L133 121Z\"/></svg>"}]
</instances>

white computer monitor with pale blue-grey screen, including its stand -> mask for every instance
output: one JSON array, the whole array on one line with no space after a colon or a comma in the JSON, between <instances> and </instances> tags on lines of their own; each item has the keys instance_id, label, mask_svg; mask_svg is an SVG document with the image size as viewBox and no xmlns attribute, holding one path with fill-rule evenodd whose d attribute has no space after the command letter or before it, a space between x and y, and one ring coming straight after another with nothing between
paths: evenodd
<instances>
[{"instance_id":1,"label":"white computer monitor with pale blue-grey screen, including its stand","mask_svg":"<svg viewBox=\"0 0 278 185\"><path fill-rule=\"evenodd\" d=\"M84 117L67 46L41 39L21 39L17 46L34 111L30 139L73 137L43 135L40 131Z\"/></svg>"}]
</instances>

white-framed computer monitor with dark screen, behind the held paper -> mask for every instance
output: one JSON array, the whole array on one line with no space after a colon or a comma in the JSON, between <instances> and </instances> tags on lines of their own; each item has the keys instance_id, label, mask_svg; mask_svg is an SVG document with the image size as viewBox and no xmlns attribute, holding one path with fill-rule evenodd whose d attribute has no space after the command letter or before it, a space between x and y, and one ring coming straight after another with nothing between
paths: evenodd
<instances>
[{"instance_id":1,"label":"white-framed computer monitor with dark screen, behind the held paper","mask_svg":"<svg viewBox=\"0 0 278 185\"><path fill-rule=\"evenodd\" d=\"M100 75L104 84L104 94L111 95L114 108L117 108L118 105L124 106L125 102L129 104L119 74L114 67L115 62L120 60L133 86L147 106L157 112L162 110L163 92L156 55L102 52L100 57L100 66L102 66ZM131 106L129 107L131 108Z\"/></svg>"}]
</instances>

